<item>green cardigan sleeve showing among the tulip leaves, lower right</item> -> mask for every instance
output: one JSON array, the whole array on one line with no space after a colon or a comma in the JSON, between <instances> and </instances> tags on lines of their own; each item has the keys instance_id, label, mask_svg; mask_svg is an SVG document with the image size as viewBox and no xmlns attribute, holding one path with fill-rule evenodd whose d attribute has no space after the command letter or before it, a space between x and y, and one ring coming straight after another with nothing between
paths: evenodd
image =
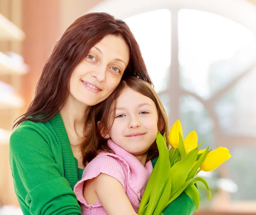
<instances>
[{"instance_id":1,"label":"green cardigan sleeve showing among the tulip leaves, lower right","mask_svg":"<svg viewBox=\"0 0 256 215\"><path fill-rule=\"evenodd\" d=\"M152 160L153 167L157 158ZM178 198L172 201L164 210L164 215L192 215L196 210L194 201L182 192Z\"/></svg>"}]
</instances>

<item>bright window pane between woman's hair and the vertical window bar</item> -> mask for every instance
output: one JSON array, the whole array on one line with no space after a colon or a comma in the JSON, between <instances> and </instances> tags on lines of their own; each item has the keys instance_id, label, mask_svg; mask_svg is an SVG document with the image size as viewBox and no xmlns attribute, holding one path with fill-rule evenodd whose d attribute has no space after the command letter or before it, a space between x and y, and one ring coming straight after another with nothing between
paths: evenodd
<instances>
[{"instance_id":1,"label":"bright window pane between woman's hair and the vertical window bar","mask_svg":"<svg viewBox=\"0 0 256 215\"><path fill-rule=\"evenodd\" d=\"M167 88L171 64L171 13L149 11L125 19L140 45L142 56L157 92Z\"/></svg>"}]
</instances>

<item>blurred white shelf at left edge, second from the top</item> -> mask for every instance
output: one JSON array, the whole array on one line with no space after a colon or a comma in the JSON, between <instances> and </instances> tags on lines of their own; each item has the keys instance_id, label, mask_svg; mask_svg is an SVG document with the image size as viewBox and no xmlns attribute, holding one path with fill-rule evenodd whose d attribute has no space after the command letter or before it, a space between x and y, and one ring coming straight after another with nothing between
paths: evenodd
<instances>
[{"instance_id":1,"label":"blurred white shelf at left edge, second from the top","mask_svg":"<svg viewBox=\"0 0 256 215\"><path fill-rule=\"evenodd\" d=\"M26 74L27 65L17 63L12 58L0 52L0 74Z\"/></svg>"}]
</instances>

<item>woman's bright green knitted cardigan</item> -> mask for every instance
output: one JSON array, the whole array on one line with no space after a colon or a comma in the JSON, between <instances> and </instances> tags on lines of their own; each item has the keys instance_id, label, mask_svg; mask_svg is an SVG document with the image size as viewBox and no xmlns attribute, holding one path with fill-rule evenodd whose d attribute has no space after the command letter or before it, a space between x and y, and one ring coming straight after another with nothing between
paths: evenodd
<instances>
[{"instance_id":1,"label":"woman's bright green knitted cardigan","mask_svg":"<svg viewBox=\"0 0 256 215\"><path fill-rule=\"evenodd\" d=\"M9 159L24 215L81 215L73 192L80 179L77 160L59 113L47 122L21 123L10 138ZM194 211L195 204L183 193L164 215L191 215Z\"/></svg>"}]
</instances>

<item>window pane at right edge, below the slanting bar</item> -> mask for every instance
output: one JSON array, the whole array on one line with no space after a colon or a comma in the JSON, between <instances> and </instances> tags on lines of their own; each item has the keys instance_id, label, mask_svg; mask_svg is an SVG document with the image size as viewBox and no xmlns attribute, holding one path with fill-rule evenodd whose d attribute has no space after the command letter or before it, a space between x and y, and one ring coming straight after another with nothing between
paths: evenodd
<instances>
[{"instance_id":1,"label":"window pane at right edge, below the slanting bar","mask_svg":"<svg viewBox=\"0 0 256 215\"><path fill-rule=\"evenodd\" d=\"M216 102L215 110L223 133L256 136L256 70Z\"/></svg>"}]
</instances>

